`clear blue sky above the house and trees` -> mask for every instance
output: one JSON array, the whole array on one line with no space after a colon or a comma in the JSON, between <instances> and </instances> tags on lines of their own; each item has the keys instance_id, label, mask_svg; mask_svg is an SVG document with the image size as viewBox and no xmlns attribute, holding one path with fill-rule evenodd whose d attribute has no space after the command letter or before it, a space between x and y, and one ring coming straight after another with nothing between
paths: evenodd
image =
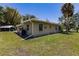
<instances>
[{"instance_id":1,"label":"clear blue sky above the house and trees","mask_svg":"<svg viewBox=\"0 0 79 59\"><path fill-rule=\"evenodd\" d=\"M59 22L62 16L61 7L63 3L1 3L0 6L17 9L21 15L35 15L40 20L48 19L50 22ZM79 4L74 5L74 13L79 12Z\"/></svg>"}]
</instances>

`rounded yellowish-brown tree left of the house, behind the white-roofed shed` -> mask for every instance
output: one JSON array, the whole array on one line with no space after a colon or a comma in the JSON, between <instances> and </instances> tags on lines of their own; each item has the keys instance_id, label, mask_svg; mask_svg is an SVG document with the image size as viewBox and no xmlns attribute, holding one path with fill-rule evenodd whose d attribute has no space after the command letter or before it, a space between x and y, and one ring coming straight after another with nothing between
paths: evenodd
<instances>
[{"instance_id":1,"label":"rounded yellowish-brown tree left of the house, behind the white-roofed shed","mask_svg":"<svg viewBox=\"0 0 79 59\"><path fill-rule=\"evenodd\" d=\"M4 13L5 25L11 24L16 25L19 24L21 21L21 15L16 9L6 7Z\"/></svg>"}]
</instances>

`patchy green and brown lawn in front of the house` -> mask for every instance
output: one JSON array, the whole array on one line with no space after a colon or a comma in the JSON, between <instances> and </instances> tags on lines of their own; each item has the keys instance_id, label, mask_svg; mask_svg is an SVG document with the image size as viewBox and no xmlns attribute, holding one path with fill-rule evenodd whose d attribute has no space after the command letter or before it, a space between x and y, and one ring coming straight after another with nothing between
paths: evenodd
<instances>
[{"instance_id":1,"label":"patchy green and brown lawn in front of the house","mask_svg":"<svg viewBox=\"0 0 79 59\"><path fill-rule=\"evenodd\" d=\"M0 55L79 55L79 33L24 40L12 32L0 32Z\"/></svg>"}]
</instances>

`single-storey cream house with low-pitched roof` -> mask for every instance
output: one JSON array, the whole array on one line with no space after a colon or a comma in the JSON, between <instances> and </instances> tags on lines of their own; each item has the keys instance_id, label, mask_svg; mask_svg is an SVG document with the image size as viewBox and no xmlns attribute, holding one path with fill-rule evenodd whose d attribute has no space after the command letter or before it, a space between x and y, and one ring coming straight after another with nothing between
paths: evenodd
<instances>
[{"instance_id":1,"label":"single-storey cream house with low-pitched roof","mask_svg":"<svg viewBox=\"0 0 79 59\"><path fill-rule=\"evenodd\" d=\"M58 24L37 20L34 18L26 20L16 27L17 29L22 27L24 30L26 30L27 35L31 36L40 36L59 32ZM19 31L19 29L17 31Z\"/></svg>"}]
</instances>

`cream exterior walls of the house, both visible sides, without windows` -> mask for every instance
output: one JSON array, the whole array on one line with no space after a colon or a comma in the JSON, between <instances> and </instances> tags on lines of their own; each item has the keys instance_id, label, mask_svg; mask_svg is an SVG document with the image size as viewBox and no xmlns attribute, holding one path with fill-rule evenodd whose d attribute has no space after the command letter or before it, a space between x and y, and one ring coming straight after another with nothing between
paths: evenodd
<instances>
[{"instance_id":1,"label":"cream exterior walls of the house, both visible sides, without windows","mask_svg":"<svg viewBox=\"0 0 79 59\"><path fill-rule=\"evenodd\" d=\"M43 31L39 31L39 24L43 24ZM27 25L29 25L29 31L27 31ZM26 22L22 25L22 27L27 31L28 35L33 35L33 36L40 36L40 35L59 32L59 29L58 30L55 29L56 25L42 23L42 22Z\"/></svg>"}]
</instances>

